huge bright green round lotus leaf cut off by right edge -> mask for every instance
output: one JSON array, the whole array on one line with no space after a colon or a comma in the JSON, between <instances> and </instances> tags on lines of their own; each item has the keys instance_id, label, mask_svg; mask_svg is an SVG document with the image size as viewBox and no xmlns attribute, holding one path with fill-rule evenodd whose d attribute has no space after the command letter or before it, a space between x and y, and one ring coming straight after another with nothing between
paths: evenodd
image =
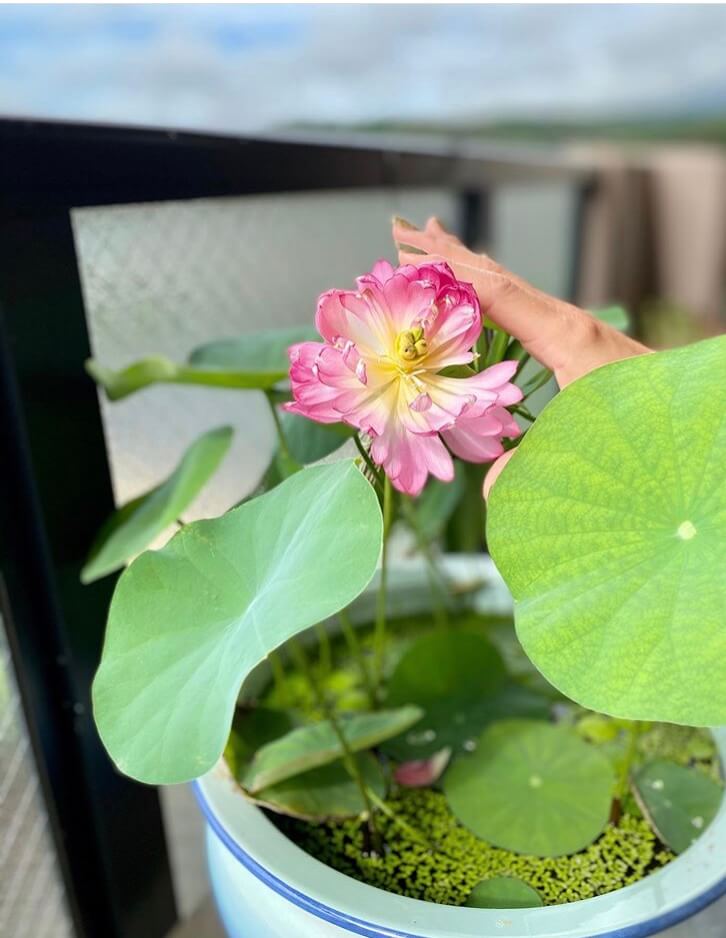
<instances>
[{"instance_id":1,"label":"huge bright green round lotus leaf cut off by right edge","mask_svg":"<svg viewBox=\"0 0 726 938\"><path fill-rule=\"evenodd\" d=\"M492 489L519 639L589 709L726 722L725 376L723 337L599 368Z\"/></svg>"}]
</instances>

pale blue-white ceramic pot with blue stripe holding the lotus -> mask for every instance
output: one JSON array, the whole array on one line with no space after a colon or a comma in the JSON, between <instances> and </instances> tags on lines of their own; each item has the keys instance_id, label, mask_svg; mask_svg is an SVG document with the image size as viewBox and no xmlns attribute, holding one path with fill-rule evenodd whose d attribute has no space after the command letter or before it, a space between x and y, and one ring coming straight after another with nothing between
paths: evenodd
<instances>
[{"instance_id":1,"label":"pale blue-white ceramic pot with blue stripe holding the lotus","mask_svg":"<svg viewBox=\"0 0 726 938\"><path fill-rule=\"evenodd\" d=\"M493 576L481 561L476 568ZM500 587L490 584L499 604ZM714 735L726 761L726 728ZM281 834L223 766L194 790L207 821L212 888L230 938L645 938L726 894L726 801L692 847L632 886L567 905L491 910L396 896L330 869Z\"/></svg>"}]
</instances>

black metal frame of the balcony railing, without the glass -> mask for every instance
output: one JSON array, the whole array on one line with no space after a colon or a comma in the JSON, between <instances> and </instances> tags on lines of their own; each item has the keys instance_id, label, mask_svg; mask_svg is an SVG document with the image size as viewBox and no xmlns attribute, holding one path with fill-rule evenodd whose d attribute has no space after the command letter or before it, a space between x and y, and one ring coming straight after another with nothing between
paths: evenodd
<instances>
[{"instance_id":1,"label":"black metal frame of the balcony railing, without the glass","mask_svg":"<svg viewBox=\"0 0 726 938\"><path fill-rule=\"evenodd\" d=\"M496 151L452 155L298 140L0 121L0 590L79 935L161 938L175 908L157 792L116 773L91 720L113 578L83 587L113 508L73 208L285 191L445 186L488 234L488 191L587 176Z\"/></svg>"}]
</instances>

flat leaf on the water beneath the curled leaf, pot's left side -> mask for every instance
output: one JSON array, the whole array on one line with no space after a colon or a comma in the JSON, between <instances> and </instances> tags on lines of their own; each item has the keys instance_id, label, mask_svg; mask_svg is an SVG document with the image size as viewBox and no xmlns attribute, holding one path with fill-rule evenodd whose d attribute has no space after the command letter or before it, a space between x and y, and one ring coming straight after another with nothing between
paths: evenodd
<instances>
[{"instance_id":1,"label":"flat leaf on the water beneath the curled leaf, pot's left side","mask_svg":"<svg viewBox=\"0 0 726 938\"><path fill-rule=\"evenodd\" d=\"M383 798L386 785L378 760L368 752L358 753L355 759L366 787ZM280 814L309 821L355 817L366 809L358 785L341 760L263 788L254 800Z\"/></svg>"}]
</instances>

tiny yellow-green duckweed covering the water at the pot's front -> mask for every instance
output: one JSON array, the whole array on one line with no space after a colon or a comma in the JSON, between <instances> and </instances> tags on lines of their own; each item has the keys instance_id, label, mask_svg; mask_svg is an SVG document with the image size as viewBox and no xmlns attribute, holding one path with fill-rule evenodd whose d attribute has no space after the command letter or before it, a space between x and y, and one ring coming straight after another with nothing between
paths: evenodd
<instances>
[{"instance_id":1,"label":"tiny yellow-green duckweed covering the water at the pot's front","mask_svg":"<svg viewBox=\"0 0 726 938\"><path fill-rule=\"evenodd\" d=\"M406 823L436 845L430 850L389 818L378 826L388 845L383 856L367 850L365 822L300 824L278 819L282 830L318 860L348 876L398 895L444 905L463 905L482 879L516 876L536 889L545 905L603 895L642 879L668 863L648 823L625 815L608 825L581 853L541 859L492 847L459 824L445 797L428 789L402 789L388 801Z\"/></svg>"}]
</instances>

